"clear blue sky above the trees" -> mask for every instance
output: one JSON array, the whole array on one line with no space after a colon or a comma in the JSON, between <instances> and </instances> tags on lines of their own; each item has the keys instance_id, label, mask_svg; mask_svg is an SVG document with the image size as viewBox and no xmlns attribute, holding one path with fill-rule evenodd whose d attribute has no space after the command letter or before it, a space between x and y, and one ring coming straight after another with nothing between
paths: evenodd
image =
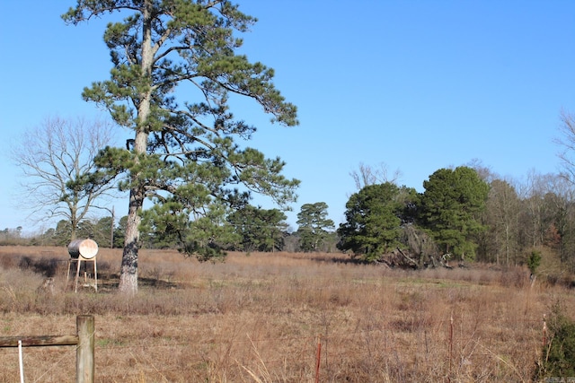
<instances>
[{"instance_id":1,"label":"clear blue sky above the trees","mask_svg":"<svg viewBox=\"0 0 575 383\"><path fill-rule=\"evenodd\" d=\"M259 19L244 36L252 61L299 110L300 126L271 126L260 109L236 114L259 126L252 146L302 181L301 205L325 202L343 220L358 164L401 170L422 191L434 171L478 159L502 177L556 172L562 109L575 111L575 1L239 0ZM2 152L49 116L102 115L81 100L108 78L105 23L66 26L75 1L4 0L0 14ZM181 99L185 95L180 96ZM22 225L19 182L0 161L0 229ZM127 203L117 204L119 215ZM271 205L263 207L270 208Z\"/></svg>"}]
</instances>

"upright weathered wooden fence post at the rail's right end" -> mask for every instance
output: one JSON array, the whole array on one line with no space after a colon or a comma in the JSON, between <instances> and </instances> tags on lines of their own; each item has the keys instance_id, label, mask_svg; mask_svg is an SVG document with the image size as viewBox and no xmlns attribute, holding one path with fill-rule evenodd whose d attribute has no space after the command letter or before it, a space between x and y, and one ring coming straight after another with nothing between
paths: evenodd
<instances>
[{"instance_id":1,"label":"upright weathered wooden fence post at the rail's right end","mask_svg":"<svg viewBox=\"0 0 575 383\"><path fill-rule=\"evenodd\" d=\"M75 352L76 383L93 383L94 325L93 316L79 315L75 320L78 346Z\"/></svg>"}]
</instances>

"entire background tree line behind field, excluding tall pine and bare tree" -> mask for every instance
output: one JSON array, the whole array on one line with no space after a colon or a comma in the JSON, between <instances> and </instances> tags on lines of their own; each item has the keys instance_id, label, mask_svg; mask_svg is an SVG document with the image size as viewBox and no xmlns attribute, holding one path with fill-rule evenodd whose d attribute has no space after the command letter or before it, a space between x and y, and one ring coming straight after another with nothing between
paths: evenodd
<instances>
[{"instance_id":1,"label":"entire background tree line behind field, excluding tall pine and bare tree","mask_svg":"<svg viewBox=\"0 0 575 383\"><path fill-rule=\"evenodd\" d=\"M519 183L475 165L437 170L421 193L399 187L395 180L370 182L378 180L358 185L349 196L345 222L337 228L324 202L302 205L295 230L281 210L247 204L226 215L219 235L199 231L196 238L221 254L339 250L361 261L415 268L448 265L450 260L527 265L534 251L548 248L575 272L575 189L562 175L531 173ZM110 216L84 220L76 233L104 248L121 248L127 221L127 216L118 222ZM27 241L66 246L71 226L61 220ZM0 239L19 238L21 231L6 229ZM146 215L141 231L143 248L182 248L192 235L182 237Z\"/></svg>"}]
</instances>

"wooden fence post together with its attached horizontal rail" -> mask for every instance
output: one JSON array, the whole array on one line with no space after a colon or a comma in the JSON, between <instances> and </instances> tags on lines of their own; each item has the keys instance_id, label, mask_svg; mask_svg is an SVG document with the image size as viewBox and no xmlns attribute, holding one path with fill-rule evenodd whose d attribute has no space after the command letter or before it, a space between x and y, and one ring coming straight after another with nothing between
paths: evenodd
<instances>
[{"instance_id":1,"label":"wooden fence post together with its attached horizontal rail","mask_svg":"<svg viewBox=\"0 0 575 383\"><path fill-rule=\"evenodd\" d=\"M93 383L94 324L92 315L75 318L76 335L0 336L0 347L75 345L75 381Z\"/></svg>"}]
</instances>

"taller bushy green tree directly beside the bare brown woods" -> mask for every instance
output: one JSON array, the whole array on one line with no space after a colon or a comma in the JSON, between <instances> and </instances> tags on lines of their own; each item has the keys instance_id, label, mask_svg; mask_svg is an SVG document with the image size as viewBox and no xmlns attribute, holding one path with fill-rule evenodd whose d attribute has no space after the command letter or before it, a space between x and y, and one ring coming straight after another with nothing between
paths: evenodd
<instances>
[{"instance_id":1,"label":"taller bushy green tree directly beside the bare brown woods","mask_svg":"<svg viewBox=\"0 0 575 383\"><path fill-rule=\"evenodd\" d=\"M446 254L473 259L489 185L471 168L440 169L423 182L420 223Z\"/></svg>"}]
</instances>

